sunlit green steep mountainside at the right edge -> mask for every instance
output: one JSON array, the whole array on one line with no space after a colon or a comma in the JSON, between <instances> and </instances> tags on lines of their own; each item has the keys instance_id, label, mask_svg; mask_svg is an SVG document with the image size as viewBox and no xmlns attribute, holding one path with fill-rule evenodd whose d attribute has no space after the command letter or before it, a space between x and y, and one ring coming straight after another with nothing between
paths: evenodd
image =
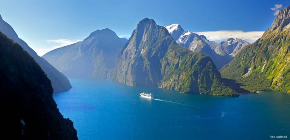
<instances>
[{"instance_id":1,"label":"sunlit green steep mountainside at the right edge","mask_svg":"<svg viewBox=\"0 0 290 140\"><path fill-rule=\"evenodd\" d=\"M290 6L277 14L256 42L245 46L222 68L222 77L242 83L249 91L290 93Z\"/></svg>"}]
</instances>

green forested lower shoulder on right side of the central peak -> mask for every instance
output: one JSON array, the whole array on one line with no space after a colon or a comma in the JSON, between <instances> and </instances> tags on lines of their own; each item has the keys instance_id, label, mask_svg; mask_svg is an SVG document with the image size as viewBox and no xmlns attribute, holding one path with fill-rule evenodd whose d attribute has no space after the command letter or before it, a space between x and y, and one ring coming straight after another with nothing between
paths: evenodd
<instances>
[{"instance_id":1,"label":"green forested lower shoulder on right side of the central peak","mask_svg":"<svg viewBox=\"0 0 290 140\"><path fill-rule=\"evenodd\" d=\"M211 58L172 43L162 60L161 88L220 96L238 94L222 82Z\"/></svg>"}]
</instances>

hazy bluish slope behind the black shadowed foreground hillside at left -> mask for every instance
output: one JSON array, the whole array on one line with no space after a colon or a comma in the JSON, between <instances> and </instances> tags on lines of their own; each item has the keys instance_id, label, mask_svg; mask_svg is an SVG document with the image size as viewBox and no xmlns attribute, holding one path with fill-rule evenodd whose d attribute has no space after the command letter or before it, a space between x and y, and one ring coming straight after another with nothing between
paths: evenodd
<instances>
[{"instance_id":1,"label":"hazy bluish slope behind the black shadowed foreground hillside at left","mask_svg":"<svg viewBox=\"0 0 290 140\"><path fill-rule=\"evenodd\" d=\"M27 51L35 61L40 65L42 70L47 74L48 78L51 80L54 92L60 92L72 88L67 77L60 73L56 68L49 64L46 60L39 57L35 51L30 48L26 42L18 37L13 28L5 22L0 15L0 31L17 42L22 48Z\"/></svg>"}]
</instances>

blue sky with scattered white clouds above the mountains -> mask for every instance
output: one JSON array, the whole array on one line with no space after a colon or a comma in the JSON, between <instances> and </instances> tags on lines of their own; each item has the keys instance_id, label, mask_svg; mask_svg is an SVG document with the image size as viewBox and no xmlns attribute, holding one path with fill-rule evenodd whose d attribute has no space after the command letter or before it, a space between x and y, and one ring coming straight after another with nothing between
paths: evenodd
<instances>
[{"instance_id":1,"label":"blue sky with scattered white clouds above the mountains","mask_svg":"<svg viewBox=\"0 0 290 140\"><path fill-rule=\"evenodd\" d=\"M42 56L98 29L109 28L129 38L145 17L161 26L178 23L210 41L237 37L252 43L288 4L288 0L0 0L0 14Z\"/></svg>"}]
</instances>

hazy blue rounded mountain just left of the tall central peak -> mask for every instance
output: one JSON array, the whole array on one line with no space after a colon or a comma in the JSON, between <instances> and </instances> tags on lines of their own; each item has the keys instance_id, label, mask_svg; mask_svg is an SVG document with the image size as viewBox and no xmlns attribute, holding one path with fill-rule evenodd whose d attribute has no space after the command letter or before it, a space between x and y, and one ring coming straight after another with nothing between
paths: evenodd
<instances>
[{"instance_id":1,"label":"hazy blue rounded mountain just left of the tall central peak","mask_svg":"<svg viewBox=\"0 0 290 140\"><path fill-rule=\"evenodd\" d=\"M57 48L42 57L68 77L106 79L125 39L106 28L92 32L82 42Z\"/></svg>"}]
</instances>

